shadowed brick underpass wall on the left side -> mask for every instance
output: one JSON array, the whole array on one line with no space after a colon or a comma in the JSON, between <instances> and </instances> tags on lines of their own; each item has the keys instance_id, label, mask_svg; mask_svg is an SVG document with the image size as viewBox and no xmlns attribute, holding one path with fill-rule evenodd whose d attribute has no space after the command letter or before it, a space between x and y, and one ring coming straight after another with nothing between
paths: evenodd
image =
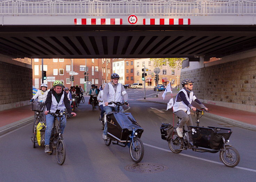
<instances>
[{"instance_id":1,"label":"shadowed brick underpass wall on the left side","mask_svg":"<svg viewBox=\"0 0 256 182\"><path fill-rule=\"evenodd\" d=\"M0 105L5 109L19 107L31 98L32 69L0 61Z\"/></svg>"}]
</instances>

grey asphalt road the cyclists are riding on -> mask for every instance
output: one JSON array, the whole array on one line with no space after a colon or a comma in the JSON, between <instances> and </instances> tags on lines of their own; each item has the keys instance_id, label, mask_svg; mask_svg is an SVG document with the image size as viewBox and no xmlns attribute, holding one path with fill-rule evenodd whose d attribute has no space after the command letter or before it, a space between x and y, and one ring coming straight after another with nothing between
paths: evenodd
<instances>
[{"instance_id":1,"label":"grey asphalt road the cyclists are riding on","mask_svg":"<svg viewBox=\"0 0 256 182\"><path fill-rule=\"evenodd\" d=\"M155 96L155 92L148 89L146 95ZM234 168L224 166L219 153L184 150L174 154L160 134L162 122L173 123L172 111L166 111L163 104L136 101L144 97L143 89L127 89L127 93L130 108L125 109L144 129L141 139L145 153L141 163L164 165L165 170L155 173L127 171L125 167L134 164L129 148L105 145L98 121L100 111L92 111L89 97L85 97L85 104L78 107L77 117L67 122L64 132L67 155L62 166L57 164L55 155L45 154L43 147L32 147L32 124L28 124L0 137L0 181L255 181L254 131L230 127L233 131L230 144L240 154L240 163ZM201 126L226 125L206 117L200 121ZM176 117L174 123L177 123Z\"/></svg>"}]
</instances>

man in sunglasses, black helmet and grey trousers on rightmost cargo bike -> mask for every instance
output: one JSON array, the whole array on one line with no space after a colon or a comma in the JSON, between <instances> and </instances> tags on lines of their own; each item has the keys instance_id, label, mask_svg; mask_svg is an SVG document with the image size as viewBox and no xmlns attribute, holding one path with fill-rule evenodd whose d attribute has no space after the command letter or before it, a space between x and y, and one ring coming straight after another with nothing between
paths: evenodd
<instances>
[{"instance_id":1,"label":"man in sunglasses, black helmet and grey trousers on rightmost cargo bike","mask_svg":"<svg viewBox=\"0 0 256 182\"><path fill-rule=\"evenodd\" d=\"M183 137L182 132L183 132L183 126L187 124L188 130L190 130L189 126L192 126L192 118L190 115L190 109L195 111L197 108L193 107L191 105L192 100L194 102L197 102L200 108L206 108L195 96L194 93L192 92L193 90L193 83L191 80L183 80L181 82L183 89L179 91L175 98L175 103L173 106L173 111L176 116L181 118L181 122L179 123L179 126L177 127L177 134L179 137ZM191 132L189 132L189 140L192 140L192 135Z\"/></svg>"}]
</instances>

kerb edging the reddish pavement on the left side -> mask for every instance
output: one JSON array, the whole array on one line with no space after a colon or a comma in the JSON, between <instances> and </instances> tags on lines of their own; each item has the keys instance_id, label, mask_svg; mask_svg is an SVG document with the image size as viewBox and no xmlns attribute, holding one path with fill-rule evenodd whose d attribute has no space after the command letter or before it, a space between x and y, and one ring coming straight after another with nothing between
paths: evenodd
<instances>
[{"instance_id":1,"label":"kerb edging the reddish pavement on the left side","mask_svg":"<svg viewBox=\"0 0 256 182\"><path fill-rule=\"evenodd\" d=\"M33 122L33 119L34 119L34 116L30 116L30 117L21 119L19 121L16 121L14 123L11 123L11 124L0 127L0 136L3 135L3 134L8 133L10 131L13 131L15 129L18 129L19 127L22 127L22 126L24 126L28 123Z\"/></svg>"}]
</instances>

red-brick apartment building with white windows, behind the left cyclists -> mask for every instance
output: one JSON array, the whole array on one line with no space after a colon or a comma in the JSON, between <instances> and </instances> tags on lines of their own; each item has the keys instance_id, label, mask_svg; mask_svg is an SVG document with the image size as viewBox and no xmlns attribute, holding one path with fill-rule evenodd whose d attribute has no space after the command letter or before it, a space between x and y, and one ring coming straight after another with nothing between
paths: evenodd
<instances>
[{"instance_id":1,"label":"red-brick apartment building with white windows, behind the left cyclists","mask_svg":"<svg viewBox=\"0 0 256 182\"><path fill-rule=\"evenodd\" d=\"M40 88L42 83L41 59L32 59L33 85ZM54 80L62 81L66 87L72 85L84 85L85 83L85 65L87 67L88 80L92 84L101 86L102 83L110 82L112 73L111 59L43 59L43 71L46 71L47 77L55 77ZM74 81L70 81L70 72L78 73L74 75ZM44 80L48 87L53 86L53 80Z\"/></svg>"}]
</instances>

